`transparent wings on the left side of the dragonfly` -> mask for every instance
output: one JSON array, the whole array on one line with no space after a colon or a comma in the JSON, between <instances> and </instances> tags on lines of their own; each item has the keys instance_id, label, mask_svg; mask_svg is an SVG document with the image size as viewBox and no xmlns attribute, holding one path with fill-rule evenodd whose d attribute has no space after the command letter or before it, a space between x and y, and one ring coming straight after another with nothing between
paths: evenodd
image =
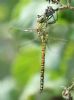
<instances>
[{"instance_id":1,"label":"transparent wings on the left side of the dragonfly","mask_svg":"<svg viewBox=\"0 0 74 100\"><path fill-rule=\"evenodd\" d=\"M10 33L12 34L15 41L17 41L17 45L19 48L38 43L38 37L36 36L36 29L19 29L19 28L11 28Z\"/></svg>"}]
</instances>

